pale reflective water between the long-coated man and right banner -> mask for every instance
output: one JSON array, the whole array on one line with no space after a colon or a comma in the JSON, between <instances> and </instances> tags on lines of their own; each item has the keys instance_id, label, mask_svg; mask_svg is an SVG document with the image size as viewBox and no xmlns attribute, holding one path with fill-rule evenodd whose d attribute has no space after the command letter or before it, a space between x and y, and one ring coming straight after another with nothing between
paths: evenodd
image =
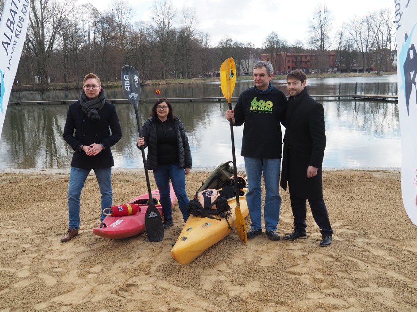
<instances>
[{"instance_id":1,"label":"pale reflective water between the long-coated man and right banner","mask_svg":"<svg viewBox=\"0 0 417 312\"><path fill-rule=\"evenodd\" d=\"M327 134L325 167L401 166L398 104L355 101L323 104Z\"/></svg>"}]
</instances>

